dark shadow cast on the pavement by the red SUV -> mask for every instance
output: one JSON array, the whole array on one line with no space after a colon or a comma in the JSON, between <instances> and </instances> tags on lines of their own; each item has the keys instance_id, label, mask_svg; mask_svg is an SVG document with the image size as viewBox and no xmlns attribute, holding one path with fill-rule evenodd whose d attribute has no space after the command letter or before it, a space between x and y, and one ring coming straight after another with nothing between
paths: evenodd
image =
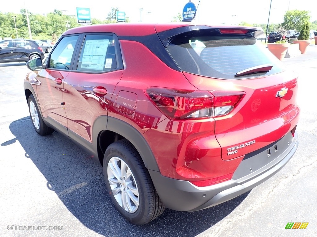
<instances>
[{"instance_id":1,"label":"dark shadow cast on the pavement by the red SUV","mask_svg":"<svg viewBox=\"0 0 317 237\"><path fill-rule=\"evenodd\" d=\"M10 131L16 138L1 146L18 140L26 159L31 159L48 180L47 188L81 223L101 235L196 236L230 214L249 194L197 212L167 209L149 224L136 226L126 221L112 204L100 164L68 138L57 132L46 137L37 135L29 117L12 122Z\"/></svg>"}]
</instances>

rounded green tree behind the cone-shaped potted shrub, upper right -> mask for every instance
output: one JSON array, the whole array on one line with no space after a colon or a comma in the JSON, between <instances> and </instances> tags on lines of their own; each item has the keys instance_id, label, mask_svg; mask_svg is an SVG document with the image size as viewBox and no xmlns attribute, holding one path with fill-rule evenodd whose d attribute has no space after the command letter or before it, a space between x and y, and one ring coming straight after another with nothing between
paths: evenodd
<instances>
[{"instance_id":1,"label":"rounded green tree behind the cone-shaped potted shrub, upper right","mask_svg":"<svg viewBox=\"0 0 317 237\"><path fill-rule=\"evenodd\" d=\"M309 11L291 10L284 15L283 26L288 29L300 31L305 22L310 20Z\"/></svg>"}]
</instances>

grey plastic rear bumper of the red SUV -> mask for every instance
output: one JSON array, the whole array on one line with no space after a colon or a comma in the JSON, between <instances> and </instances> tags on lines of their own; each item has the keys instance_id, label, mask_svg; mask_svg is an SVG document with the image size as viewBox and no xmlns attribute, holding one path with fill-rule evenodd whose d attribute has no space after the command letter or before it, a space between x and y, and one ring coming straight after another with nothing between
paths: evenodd
<instances>
[{"instance_id":1,"label":"grey plastic rear bumper of the red SUV","mask_svg":"<svg viewBox=\"0 0 317 237\"><path fill-rule=\"evenodd\" d=\"M273 157L267 164L256 167L256 170L250 173L250 167L256 165L258 163L256 161L268 158L268 150L274 152L276 147L282 148L283 151L279 154L276 152L275 156L272 154ZM246 155L247 158L241 161L231 180L207 187L197 187L189 181L171 179L162 176L157 171L149 170L149 173L159 197L167 208L178 211L197 211L226 202L269 179L292 158L297 147L297 133L294 138L288 133L257 153L253 152L252 156ZM249 173L245 171L247 167Z\"/></svg>"}]
</instances>

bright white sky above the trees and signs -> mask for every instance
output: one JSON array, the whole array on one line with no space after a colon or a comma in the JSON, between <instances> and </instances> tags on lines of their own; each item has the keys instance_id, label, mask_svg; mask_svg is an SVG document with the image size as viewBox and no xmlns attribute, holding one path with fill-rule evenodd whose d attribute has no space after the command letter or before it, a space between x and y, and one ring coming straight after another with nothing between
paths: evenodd
<instances>
[{"instance_id":1,"label":"bright white sky above the trees and signs","mask_svg":"<svg viewBox=\"0 0 317 237\"><path fill-rule=\"evenodd\" d=\"M201 0L197 10L196 22L208 24L238 24L241 21L253 23L267 23L271 0ZM31 13L47 14L54 9L62 10L66 14L76 15L76 7L89 8L91 17L105 20L111 8L124 11L132 22L169 22L173 16L183 12L189 0L15 0L3 1L0 11L19 13L24 3ZM198 5L199 0L192 0ZM139 9L143 10L140 12ZM317 7L315 0L272 0L269 23L282 23L287 10L308 10L312 16L310 21L317 20Z\"/></svg>"}]
</instances>

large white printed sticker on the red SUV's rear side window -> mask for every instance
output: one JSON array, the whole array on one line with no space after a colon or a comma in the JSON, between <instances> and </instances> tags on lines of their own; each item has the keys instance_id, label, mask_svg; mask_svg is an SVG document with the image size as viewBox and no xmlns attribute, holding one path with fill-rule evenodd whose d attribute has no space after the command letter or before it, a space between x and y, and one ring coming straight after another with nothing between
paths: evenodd
<instances>
[{"instance_id":1,"label":"large white printed sticker on the red SUV's rear side window","mask_svg":"<svg viewBox=\"0 0 317 237\"><path fill-rule=\"evenodd\" d=\"M108 45L109 40L87 40L84 46L81 68L102 71Z\"/></svg>"}]
</instances>

